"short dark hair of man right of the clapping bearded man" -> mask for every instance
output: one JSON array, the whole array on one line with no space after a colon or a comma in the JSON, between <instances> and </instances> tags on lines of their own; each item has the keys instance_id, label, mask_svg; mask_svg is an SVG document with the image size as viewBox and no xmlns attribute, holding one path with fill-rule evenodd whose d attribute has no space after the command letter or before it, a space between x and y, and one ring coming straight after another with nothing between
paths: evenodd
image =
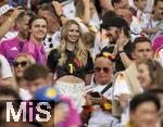
<instances>
[{"instance_id":1,"label":"short dark hair of man right of the clapping bearded man","mask_svg":"<svg viewBox=\"0 0 163 127\"><path fill-rule=\"evenodd\" d=\"M142 42L149 42L151 45L151 40L148 39L147 37L137 37L134 42L133 42L133 51L136 49L137 43L142 43Z\"/></svg>"}]
</instances>

